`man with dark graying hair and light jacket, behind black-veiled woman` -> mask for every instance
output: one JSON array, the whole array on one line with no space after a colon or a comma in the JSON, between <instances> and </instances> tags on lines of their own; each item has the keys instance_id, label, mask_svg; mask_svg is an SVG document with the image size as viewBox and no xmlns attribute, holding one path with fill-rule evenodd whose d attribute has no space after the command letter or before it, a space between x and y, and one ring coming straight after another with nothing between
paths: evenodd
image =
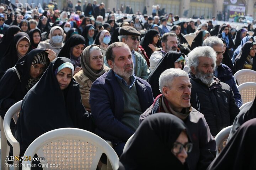
<instances>
[{"instance_id":1,"label":"man with dark graying hair and light jacket, behind black-veiled woman","mask_svg":"<svg viewBox=\"0 0 256 170\"><path fill-rule=\"evenodd\" d=\"M177 51L178 39L175 33L165 33L161 40L162 48L154 51L149 58L150 70L153 72L155 66L159 63L162 57L169 51Z\"/></svg>"}]
</instances>

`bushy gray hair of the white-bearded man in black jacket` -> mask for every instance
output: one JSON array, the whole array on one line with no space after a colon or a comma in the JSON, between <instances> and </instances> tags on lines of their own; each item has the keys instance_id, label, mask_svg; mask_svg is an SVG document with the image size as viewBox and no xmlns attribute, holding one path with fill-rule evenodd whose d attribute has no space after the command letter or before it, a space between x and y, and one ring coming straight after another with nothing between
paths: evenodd
<instances>
[{"instance_id":1,"label":"bushy gray hair of the white-bearded man in black jacket","mask_svg":"<svg viewBox=\"0 0 256 170\"><path fill-rule=\"evenodd\" d=\"M199 59L198 59L199 57L212 58L212 61L214 63L214 68L216 67L217 55L216 55L216 52L213 50L213 48L209 46L196 47L188 54L188 66L190 68L189 70L190 73L192 73L191 67L197 70L197 67L199 65Z\"/></svg>"}]
</instances>

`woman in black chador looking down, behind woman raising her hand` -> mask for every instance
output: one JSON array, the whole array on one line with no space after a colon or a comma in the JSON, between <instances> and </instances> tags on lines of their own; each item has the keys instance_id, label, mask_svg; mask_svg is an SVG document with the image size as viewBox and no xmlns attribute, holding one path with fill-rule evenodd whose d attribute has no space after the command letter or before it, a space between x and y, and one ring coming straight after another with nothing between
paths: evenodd
<instances>
[{"instance_id":1,"label":"woman in black chador looking down, behind woman raising her hand","mask_svg":"<svg viewBox=\"0 0 256 170\"><path fill-rule=\"evenodd\" d=\"M7 69L14 67L17 61L27 54L29 47L30 38L26 33L21 32L14 36L0 63L0 78Z\"/></svg>"}]
</instances>

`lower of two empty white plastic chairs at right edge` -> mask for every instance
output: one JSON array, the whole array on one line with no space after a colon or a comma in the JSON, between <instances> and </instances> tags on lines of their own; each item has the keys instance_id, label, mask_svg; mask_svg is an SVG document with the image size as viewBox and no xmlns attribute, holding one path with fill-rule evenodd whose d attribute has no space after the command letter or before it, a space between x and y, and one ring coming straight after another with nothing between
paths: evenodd
<instances>
[{"instance_id":1,"label":"lower of two empty white plastic chairs at right edge","mask_svg":"<svg viewBox=\"0 0 256 170\"><path fill-rule=\"evenodd\" d=\"M238 86L238 91L242 97L242 102L247 103L254 100L256 95L256 83L247 82Z\"/></svg>"}]
</instances>

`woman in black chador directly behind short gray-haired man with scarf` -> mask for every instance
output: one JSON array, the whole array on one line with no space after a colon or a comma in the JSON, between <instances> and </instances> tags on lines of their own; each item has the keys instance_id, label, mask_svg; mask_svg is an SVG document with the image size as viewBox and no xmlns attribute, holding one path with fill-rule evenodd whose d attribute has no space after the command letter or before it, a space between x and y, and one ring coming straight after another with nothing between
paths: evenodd
<instances>
[{"instance_id":1,"label":"woman in black chador directly behind short gray-haired man with scarf","mask_svg":"<svg viewBox=\"0 0 256 170\"><path fill-rule=\"evenodd\" d=\"M183 69L185 65L185 55L180 52L169 51L161 58L159 63L154 68L153 72L149 74L147 79L151 85L154 98L161 94L159 91L159 77L164 70L169 68Z\"/></svg>"}]
</instances>

